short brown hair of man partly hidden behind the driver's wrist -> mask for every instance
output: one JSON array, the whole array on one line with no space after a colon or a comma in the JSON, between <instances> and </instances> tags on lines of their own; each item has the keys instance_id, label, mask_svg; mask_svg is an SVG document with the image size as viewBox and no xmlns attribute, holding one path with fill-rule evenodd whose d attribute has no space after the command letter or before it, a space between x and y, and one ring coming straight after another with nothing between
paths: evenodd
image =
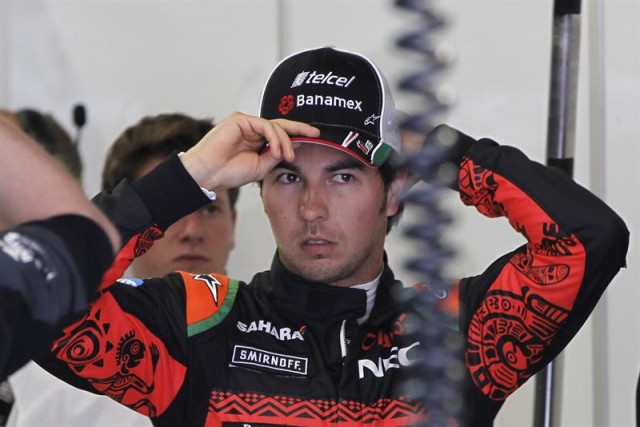
<instances>
[{"instance_id":1,"label":"short brown hair of man partly hidden behind the driver's wrist","mask_svg":"<svg viewBox=\"0 0 640 427\"><path fill-rule=\"evenodd\" d=\"M112 191L120 181L138 178L140 168L154 157L168 157L187 151L215 125L209 119L195 119L181 113L145 117L113 143L102 171L102 189ZM239 189L229 188L229 204L235 208Z\"/></svg>"}]
</instances>

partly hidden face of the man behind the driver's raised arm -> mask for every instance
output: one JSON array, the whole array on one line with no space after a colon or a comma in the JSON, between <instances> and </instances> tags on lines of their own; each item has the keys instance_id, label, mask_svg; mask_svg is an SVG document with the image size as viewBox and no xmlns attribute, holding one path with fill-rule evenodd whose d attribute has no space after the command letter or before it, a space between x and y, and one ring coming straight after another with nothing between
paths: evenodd
<instances>
[{"instance_id":1,"label":"partly hidden face of the man behind the driver's raised arm","mask_svg":"<svg viewBox=\"0 0 640 427\"><path fill-rule=\"evenodd\" d=\"M163 159L154 158L139 171L142 176ZM169 227L144 255L131 264L136 277L158 277L172 271L224 273L235 245L236 212L227 191L216 192L211 204L181 218Z\"/></svg>"}]
</instances>

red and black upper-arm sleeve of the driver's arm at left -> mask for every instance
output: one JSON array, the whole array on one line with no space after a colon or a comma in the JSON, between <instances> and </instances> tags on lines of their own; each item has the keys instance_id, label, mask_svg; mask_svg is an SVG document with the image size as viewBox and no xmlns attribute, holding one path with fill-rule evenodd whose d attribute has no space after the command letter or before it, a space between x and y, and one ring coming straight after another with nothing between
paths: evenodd
<instances>
[{"instance_id":1,"label":"red and black upper-arm sleeve of the driver's arm at left","mask_svg":"<svg viewBox=\"0 0 640 427\"><path fill-rule=\"evenodd\" d=\"M83 319L66 328L54 343L52 353L57 360L53 363L62 363L68 373L61 375L60 369L52 371L50 366L44 367L72 385L92 388L154 417L161 415L177 395L184 382L186 366L178 360L182 358L174 348L181 338L166 333L173 330L173 321L163 315L167 311L163 306L171 303L174 295L166 292L167 301L153 300L145 295L147 292L142 289L145 287L167 290L170 284L150 283L139 288L112 286ZM182 310L177 309L176 313L180 313L179 323L185 327L178 330L184 331L186 340L184 299L181 304ZM149 311L150 307L155 309ZM134 312L149 313L148 319L142 320Z\"/></svg>"}]
</instances>

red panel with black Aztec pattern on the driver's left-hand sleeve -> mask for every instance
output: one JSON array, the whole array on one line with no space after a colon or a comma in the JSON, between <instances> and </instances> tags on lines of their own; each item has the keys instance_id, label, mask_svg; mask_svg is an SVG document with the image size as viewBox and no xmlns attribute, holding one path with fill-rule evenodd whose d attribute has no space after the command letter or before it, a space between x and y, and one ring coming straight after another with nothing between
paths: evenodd
<instances>
[{"instance_id":1,"label":"red panel with black Aztec pattern on the driver's left-hand sleeve","mask_svg":"<svg viewBox=\"0 0 640 427\"><path fill-rule=\"evenodd\" d=\"M186 372L162 340L122 311L111 293L68 327L53 349L60 361L96 391L150 417L169 406Z\"/></svg>"}]
</instances>

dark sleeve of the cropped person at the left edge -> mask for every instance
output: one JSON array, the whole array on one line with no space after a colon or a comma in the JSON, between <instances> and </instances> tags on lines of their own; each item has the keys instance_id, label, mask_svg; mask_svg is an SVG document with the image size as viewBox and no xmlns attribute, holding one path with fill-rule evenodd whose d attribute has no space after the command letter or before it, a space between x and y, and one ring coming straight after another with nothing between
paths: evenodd
<instances>
[{"instance_id":1,"label":"dark sleeve of the cropped person at the left edge","mask_svg":"<svg viewBox=\"0 0 640 427\"><path fill-rule=\"evenodd\" d=\"M86 312L112 260L104 231L79 215L0 233L0 381Z\"/></svg>"}]
</instances>

